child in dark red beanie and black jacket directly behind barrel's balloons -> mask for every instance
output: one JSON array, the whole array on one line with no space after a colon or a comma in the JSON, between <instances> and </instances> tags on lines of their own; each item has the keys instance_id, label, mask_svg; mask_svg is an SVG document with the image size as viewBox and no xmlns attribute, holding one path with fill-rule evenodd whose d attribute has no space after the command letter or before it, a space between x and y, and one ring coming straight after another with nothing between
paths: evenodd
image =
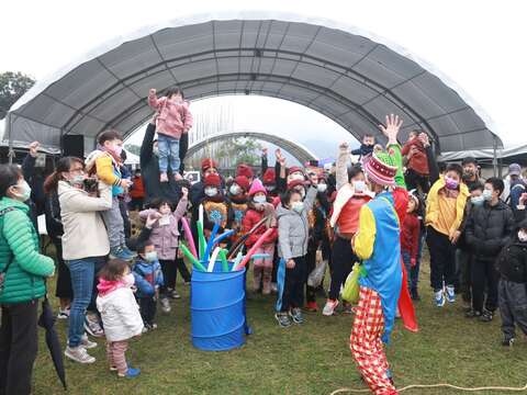
<instances>
[{"instance_id":1,"label":"child in dark red beanie and black jacket directly behind barrel's balloons","mask_svg":"<svg viewBox=\"0 0 527 395\"><path fill-rule=\"evenodd\" d=\"M192 225L199 219L199 208L203 205L203 229L209 234L215 224L220 225L218 233L229 229L234 222L234 212L231 202L223 194L222 179L215 172L209 173L203 181L204 198L193 205Z\"/></svg>"}]
</instances>

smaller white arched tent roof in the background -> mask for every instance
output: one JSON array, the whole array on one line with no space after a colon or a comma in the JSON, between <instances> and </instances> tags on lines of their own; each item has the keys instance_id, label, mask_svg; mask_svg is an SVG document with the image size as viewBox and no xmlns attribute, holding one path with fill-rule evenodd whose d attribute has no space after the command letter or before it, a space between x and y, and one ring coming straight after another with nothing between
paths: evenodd
<instances>
[{"instance_id":1,"label":"smaller white arched tent roof in the background","mask_svg":"<svg viewBox=\"0 0 527 395\"><path fill-rule=\"evenodd\" d=\"M300 143L292 142L290 139L276 136L265 132L250 132L250 131L236 131L236 132L227 132L227 133L220 133L206 136L199 142L194 142L189 147L187 151L187 157L191 157L200 149L204 148L208 144L212 144L214 142L222 142L228 138L236 138L236 137L251 137L260 140L265 140L280 148L285 149L289 154L291 154L298 161L304 163L310 160L318 160L315 154L313 154L310 149L304 147Z\"/></svg>"}]
</instances>

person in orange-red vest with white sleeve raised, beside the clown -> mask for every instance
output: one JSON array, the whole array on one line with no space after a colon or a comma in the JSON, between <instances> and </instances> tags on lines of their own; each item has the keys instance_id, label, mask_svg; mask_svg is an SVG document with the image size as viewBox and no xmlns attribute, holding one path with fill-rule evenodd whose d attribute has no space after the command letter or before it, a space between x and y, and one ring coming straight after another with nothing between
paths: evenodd
<instances>
[{"instance_id":1,"label":"person in orange-red vest with white sleeve raised, beside the clown","mask_svg":"<svg viewBox=\"0 0 527 395\"><path fill-rule=\"evenodd\" d=\"M362 169L352 167L348 172L349 154L348 144L340 144L336 170L337 196L329 222L335 229L335 237L332 248L332 285L322 312L325 316L332 316L335 313L339 304L340 286L346 282L354 263L359 261L351 249L350 241L359 226L360 208L373 198L366 185ZM344 313L351 313L349 303L344 302L343 307Z\"/></svg>"}]
</instances>

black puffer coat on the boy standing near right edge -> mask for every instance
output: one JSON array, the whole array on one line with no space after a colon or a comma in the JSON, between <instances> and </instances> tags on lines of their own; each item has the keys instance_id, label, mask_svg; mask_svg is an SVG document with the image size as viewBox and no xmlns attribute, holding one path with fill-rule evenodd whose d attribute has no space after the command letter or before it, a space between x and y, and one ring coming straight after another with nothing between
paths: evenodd
<instances>
[{"instance_id":1,"label":"black puffer coat on the boy standing near right edge","mask_svg":"<svg viewBox=\"0 0 527 395\"><path fill-rule=\"evenodd\" d=\"M489 202L472 211L467 221L467 242L478 260L494 260L512 238L515 221L511 207L500 201Z\"/></svg>"}]
</instances>

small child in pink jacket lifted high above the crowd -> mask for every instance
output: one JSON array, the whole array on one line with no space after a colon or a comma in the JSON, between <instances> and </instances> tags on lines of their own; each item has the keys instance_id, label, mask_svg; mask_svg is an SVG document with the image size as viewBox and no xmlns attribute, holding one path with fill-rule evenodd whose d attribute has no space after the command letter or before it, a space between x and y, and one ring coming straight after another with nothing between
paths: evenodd
<instances>
[{"instance_id":1,"label":"small child in pink jacket lifted high above the crowd","mask_svg":"<svg viewBox=\"0 0 527 395\"><path fill-rule=\"evenodd\" d=\"M170 88L166 97L157 98L156 90L150 89L148 104L159 113L157 117L157 145L159 148L159 180L168 182L168 165L176 181L182 179L179 173L181 159L179 157L179 140L181 135L192 127L192 114L189 102L184 101L183 91Z\"/></svg>"}]
</instances>

